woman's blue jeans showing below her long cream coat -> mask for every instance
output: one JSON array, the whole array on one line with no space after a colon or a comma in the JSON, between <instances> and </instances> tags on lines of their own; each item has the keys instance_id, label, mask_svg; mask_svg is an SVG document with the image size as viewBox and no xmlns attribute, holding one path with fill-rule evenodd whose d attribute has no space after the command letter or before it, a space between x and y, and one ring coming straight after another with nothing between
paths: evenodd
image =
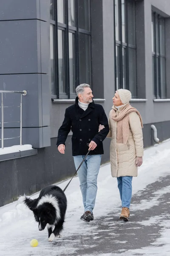
<instances>
[{"instance_id":1,"label":"woman's blue jeans showing below her long cream coat","mask_svg":"<svg viewBox=\"0 0 170 256\"><path fill-rule=\"evenodd\" d=\"M120 198L122 201L122 207L130 208L130 202L132 198L132 176L118 177L117 182Z\"/></svg>"}]
</instances>

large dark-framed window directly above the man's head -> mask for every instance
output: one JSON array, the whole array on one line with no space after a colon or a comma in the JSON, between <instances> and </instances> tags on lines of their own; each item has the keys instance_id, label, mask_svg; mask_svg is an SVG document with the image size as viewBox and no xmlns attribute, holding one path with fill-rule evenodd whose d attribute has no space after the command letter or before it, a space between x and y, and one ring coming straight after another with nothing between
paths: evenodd
<instances>
[{"instance_id":1,"label":"large dark-framed window directly above the man's head","mask_svg":"<svg viewBox=\"0 0 170 256\"><path fill-rule=\"evenodd\" d=\"M90 0L51 0L50 23L51 94L74 99L91 84Z\"/></svg>"}]
</instances>

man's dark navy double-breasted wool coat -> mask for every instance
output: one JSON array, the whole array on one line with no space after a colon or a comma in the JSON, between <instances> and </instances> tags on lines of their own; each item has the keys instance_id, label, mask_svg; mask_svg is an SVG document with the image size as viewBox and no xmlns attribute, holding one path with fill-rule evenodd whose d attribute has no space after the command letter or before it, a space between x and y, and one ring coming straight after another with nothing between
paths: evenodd
<instances>
[{"instance_id":1,"label":"man's dark navy double-breasted wool coat","mask_svg":"<svg viewBox=\"0 0 170 256\"><path fill-rule=\"evenodd\" d=\"M105 125L105 128L100 132L98 132L99 124ZM84 111L79 107L77 97L75 104L65 110L65 118L58 131L57 147L60 144L65 145L65 140L70 130L73 132L71 138L73 156L87 154L91 140L97 144L97 147L91 150L89 154L104 153L102 141L108 135L109 126L108 118L102 105L95 104L93 101Z\"/></svg>"}]
</instances>

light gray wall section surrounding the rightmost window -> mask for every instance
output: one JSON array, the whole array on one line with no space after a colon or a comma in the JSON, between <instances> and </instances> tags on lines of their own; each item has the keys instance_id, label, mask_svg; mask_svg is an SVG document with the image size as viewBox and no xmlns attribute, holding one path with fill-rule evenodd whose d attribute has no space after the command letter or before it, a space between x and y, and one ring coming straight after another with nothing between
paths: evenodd
<instances>
[{"instance_id":1,"label":"light gray wall section surrounding the rightmost window","mask_svg":"<svg viewBox=\"0 0 170 256\"><path fill-rule=\"evenodd\" d=\"M156 123L164 122L170 120L170 102L153 102L153 76L152 76L152 43L151 43L151 10L152 6L161 10L161 15L167 17L167 20L170 19L170 2L168 0L159 1L159 0L144 0L144 35L145 35L145 87L146 87L146 99L147 102L144 105L142 114L144 119L144 124L147 123ZM150 26L149 26L150 24ZM165 23L165 26L167 24ZM170 27L166 26L166 37L170 37ZM166 41L166 40L165 40ZM166 45L167 47L167 41ZM166 59L169 60L170 52L166 51ZM170 70L169 63L166 63L167 70ZM167 72L168 73L168 72ZM169 95L170 90L170 81L167 79L167 96ZM143 106L142 106L143 107ZM141 112L143 112L141 109Z\"/></svg>"}]
</instances>

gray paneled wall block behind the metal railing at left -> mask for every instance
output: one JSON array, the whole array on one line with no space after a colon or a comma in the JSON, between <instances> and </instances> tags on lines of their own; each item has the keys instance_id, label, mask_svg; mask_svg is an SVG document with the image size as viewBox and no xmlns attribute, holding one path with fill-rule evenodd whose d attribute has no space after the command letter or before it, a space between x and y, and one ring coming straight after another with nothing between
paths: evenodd
<instances>
[{"instance_id":1,"label":"gray paneled wall block behind the metal railing at left","mask_svg":"<svg viewBox=\"0 0 170 256\"><path fill-rule=\"evenodd\" d=\"M0 1L0 90L26 90L23 144L50 145L49 0ZM19 136L20 96L4 95L4 137ZM12 114L11 114L12 113ZM0 114L1 115L1 114ZM0 116L1 119L1 116ZM12 136L11 136L12 135ZM4 145L19 144L19 139Z\"/></svg>"}]
</instances>

